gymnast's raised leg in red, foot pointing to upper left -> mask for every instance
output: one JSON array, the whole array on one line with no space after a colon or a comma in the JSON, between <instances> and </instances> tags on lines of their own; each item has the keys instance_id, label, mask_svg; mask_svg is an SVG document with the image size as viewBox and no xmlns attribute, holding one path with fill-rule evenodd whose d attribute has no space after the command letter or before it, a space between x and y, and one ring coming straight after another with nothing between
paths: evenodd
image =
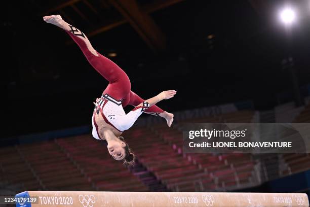
<instances>
[{"instance_id":1,"label":"gymnast's raised leg in red, foot pointing to upper left","mask_svg":"<svg viewBox=\"0 0 310 207\"><path fill-rule=\"evenodd\" d=\"M118 100L123 99L129 93L131 85L126 73L110 59L98 53L81 30L65 22L60 15L45 16L43 19L47 23L64 29L78 44L89 63L109 82L104 93Z\"/></svg>"}]
</instances>

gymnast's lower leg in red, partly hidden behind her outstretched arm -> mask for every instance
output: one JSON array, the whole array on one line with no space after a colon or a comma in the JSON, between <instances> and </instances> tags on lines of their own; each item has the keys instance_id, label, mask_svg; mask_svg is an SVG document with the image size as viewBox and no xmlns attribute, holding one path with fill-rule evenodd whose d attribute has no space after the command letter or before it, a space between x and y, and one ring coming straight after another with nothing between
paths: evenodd
<instances>
[{"instance_id":1,"label":"gymnast's lower leg in red, partly hidden behind her outstretched arm","mask_svg":"<svg viewBox=\"0 0 310 207\"><path fill-rule=\"evenodd\" d=\"M133 91L130 91L129 94L126 96L125 101L123 102L123 106L124 105L126 106L127 104L129 104L131 106L136 107L140 103L142 103L143 101L144 100L140 96L138 96ZM144 113L156 115L156 116L161 116L161 117L165 118L169 127L171 126L171 124L173 122L173 114L162 110L161 108L159 108L156 105L151 106L150 108L145 110Z\"/></svg>"}]
</instances>

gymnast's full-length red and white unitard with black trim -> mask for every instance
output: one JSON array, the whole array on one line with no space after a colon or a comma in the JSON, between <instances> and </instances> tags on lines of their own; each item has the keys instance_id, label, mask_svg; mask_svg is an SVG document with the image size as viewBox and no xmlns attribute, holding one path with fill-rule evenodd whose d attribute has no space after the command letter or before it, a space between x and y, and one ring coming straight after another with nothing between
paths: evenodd
<instances>
[{"instance_id":1,"label":"gymnast's full-length red and white unitard with black trim","mask_svg":"<svg viewBox=\"0 0 310 207\"><path fill-rule=\"evenodd\" d=\"M97 101L92 117L93 136L104 140L102 129L109 128L119 136L124 130L129 129L143 113L159 115L164 111L144 101L136 93L131 91L131 83L127 74L110 59L98 53L90 44L86 35L78 28L67 25L65 31L78 44L89 63L108 82L103 95ZM142 107L137 107L143 103ZM123 107L131 105L135 108L125 114Z\"/></svg>"}]
</instances>

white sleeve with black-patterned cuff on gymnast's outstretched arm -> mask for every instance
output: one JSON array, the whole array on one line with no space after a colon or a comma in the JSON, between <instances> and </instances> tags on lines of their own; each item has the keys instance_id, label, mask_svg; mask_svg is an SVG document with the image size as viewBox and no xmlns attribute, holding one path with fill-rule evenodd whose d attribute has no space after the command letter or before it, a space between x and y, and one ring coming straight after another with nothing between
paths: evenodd
<instances>
[{"instance_id":1,"label":"white sleeve with black-patterned cuff on gymnast's outstretched arm","mask_svg":"<svg viewBox=\"0 0 310 207\"><path fill-rule=\"evenodd\" d=\"M138 117L149 108L149 103L144 101L143 106L135 107L126 115L115 115L115 119L117 119L117 125L119 130L125 131L132 127Z\"/></svg>"}]
</instances>

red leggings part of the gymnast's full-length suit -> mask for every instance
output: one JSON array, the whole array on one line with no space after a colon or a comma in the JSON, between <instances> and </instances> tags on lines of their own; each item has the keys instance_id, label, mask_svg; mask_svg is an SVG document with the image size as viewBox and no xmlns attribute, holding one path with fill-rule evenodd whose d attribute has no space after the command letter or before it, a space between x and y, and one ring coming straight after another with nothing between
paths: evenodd
<instances>
[{"instance_id":1,"label":"red leggings part of the gymnast's full-length suit","mask_svg":"<svg viewBox=\"0 0 310 207\"><path fill-rule=\"evenodd\" d=\"M81 32L83 34L81 39L69 31L66 32L74 40L74 42L79 45L85 57L87 58L89 63L95 68L95 70L109 82L108 86L103 91L104 94L107 93L117 100L123 100L123 107L127 105L138 106L144 101L140 96L130 90L130 80L127 74L117 64L115 64L110 59L104 57L103 55L99 54L98 52L97 54L99 55L99 57L95 56L93 53L90 52L90 50L87 48L86 42L82 40L86 37L84 33ZM88 40L85 38L85 41ZM156 105L153 105L147 110L145 110L145 112L158 115L159 113L162 113L164 111Z\"/></svg>"}]
</instances>

